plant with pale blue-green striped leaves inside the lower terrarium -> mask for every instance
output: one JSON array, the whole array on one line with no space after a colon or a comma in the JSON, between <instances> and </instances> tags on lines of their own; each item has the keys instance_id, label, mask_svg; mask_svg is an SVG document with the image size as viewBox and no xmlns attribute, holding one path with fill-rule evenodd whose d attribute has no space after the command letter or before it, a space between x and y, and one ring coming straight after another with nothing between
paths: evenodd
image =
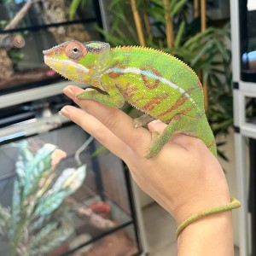
<instances>
[{"instance_id":1,"label":"plant with pale blue-green striped leaves inside the lower terrarium","mask_svg":"<svg viewBox=\"0 0 256 256\"><path fill-rule=\"evenodd\" d=\"M0 206L0 235L6 255L41 255L61 245L73 232L63 201L84 182L85 165L56 176L55 166L65 153L44 144L36 154L27 142L18 144L12 207Z\"/></svg>"}]
</instances>

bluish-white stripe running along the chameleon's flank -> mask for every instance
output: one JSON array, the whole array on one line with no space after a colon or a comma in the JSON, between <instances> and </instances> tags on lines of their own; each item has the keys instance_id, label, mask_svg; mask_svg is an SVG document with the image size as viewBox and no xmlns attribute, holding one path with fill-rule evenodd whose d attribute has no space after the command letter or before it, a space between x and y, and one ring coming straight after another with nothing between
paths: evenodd
<instances>
[{"instance_id":1,"label":"bluish-white stripe running along the chameleon's flank","mask_svg":"<svg viewBox=\"0 0 256 256\"><path fill-rule=\"evenodd\" d=\"M113 67L113 68L109 68L105 73L111 73L111 72L143 74L150 79L159 80L163 84L168 84L174 90L178 90L180 93L182 93L184 96L186 96L189 99L189 101L195 105L196 108L198 108L197 103L189 96L189 94L186 92L186 90L183 90L181 87L178 87L177 84L172 83L168 79L161 78L161 77L155 75L154 73L148 72L147 70L141 70L137 67L126 67L126 68Z\"/></svg>"}]
</instances>

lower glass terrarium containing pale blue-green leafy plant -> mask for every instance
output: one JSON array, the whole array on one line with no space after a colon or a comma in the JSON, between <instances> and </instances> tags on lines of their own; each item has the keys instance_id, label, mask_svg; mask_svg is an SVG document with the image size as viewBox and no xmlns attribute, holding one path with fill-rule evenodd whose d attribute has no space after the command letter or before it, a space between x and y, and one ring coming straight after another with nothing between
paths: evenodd
<instances>
[{"instance_id":1,"label":"lower glass terrarium containing pale blue-green leafy plant","mask_svg":"<svg viewBox=\"0 0 256 256\"><path fill-rule=\"evenodd\" d=\"M0 255L141 255L129 173L79 126L55 113L0 142Z\"/></svg>"}]
</instances>

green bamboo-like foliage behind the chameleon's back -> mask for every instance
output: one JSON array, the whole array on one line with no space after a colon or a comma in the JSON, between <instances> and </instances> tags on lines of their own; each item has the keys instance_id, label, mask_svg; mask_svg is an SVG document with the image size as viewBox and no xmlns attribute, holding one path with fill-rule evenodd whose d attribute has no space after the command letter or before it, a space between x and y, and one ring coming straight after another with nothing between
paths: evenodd
<instances>
[{"instance_id":1,"label":"green bamboo-like foliage behind the chameleon's back","mask_svg":"<svg viewBox=\"0 0 256 256\"><path fill-rule=\"evenodd\" d=\"M226 135L233 123L229 24L219 28L208 20L207 29L201 31L201 17L193 14L193 1L172 0L166 8L164 2L137 1L146 44L176 55L195 70L202 84L207 83L209 123L215 137ZM101 30L108 42L113 46L139 44L131 16L131 2L113 0L109 11L113 15L111 29L109 32ZM172 47L167 46L166 14L172 18L175 35ZM219 142L218 146L224 143ZM225 158L219 147L218 153Z\"/></svg>"}]
</instances>

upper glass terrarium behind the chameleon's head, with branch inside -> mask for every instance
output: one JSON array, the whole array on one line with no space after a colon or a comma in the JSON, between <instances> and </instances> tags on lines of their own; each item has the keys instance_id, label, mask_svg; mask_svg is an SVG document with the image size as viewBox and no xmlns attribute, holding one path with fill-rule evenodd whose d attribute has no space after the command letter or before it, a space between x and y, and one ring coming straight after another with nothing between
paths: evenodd
<instances>
[{"instance_id":1,"label":"upper glass terrarium behind the chameleon's head, with branch inside","mask_svg":"<svg viewBox=\"0 0 256 256\"><path fill-rule=\"evenodd\" d=\"M0 1L0 95L61 79L44 65L42 51L68 40L101 38L98 1Z\"/></svg>"}]
</instances>

